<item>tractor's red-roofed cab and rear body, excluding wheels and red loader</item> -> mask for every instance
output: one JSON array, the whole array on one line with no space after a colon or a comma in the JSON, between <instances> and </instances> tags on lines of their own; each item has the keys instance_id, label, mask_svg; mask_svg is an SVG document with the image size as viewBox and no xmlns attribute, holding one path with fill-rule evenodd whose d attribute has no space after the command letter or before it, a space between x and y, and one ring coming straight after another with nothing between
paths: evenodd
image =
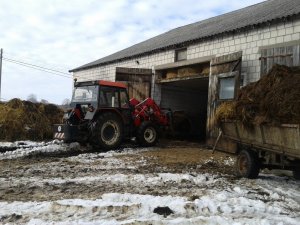
<instances>
[{"instance_id":1,"label":"tractor's red-roofed cab and rear body, excluding wheels and red loader","mask_svg":"<svg viewBox=\"0 0 300 225\"><path fill-rule=\"evenodd\" d=\"M64 114L63 124L54 125L55 139L86 142L93 135L99 117L107 113L118 116L123 127L132 124L127 89L120 82L75 81L70 107Z\"/></svg>"}]
</instances>

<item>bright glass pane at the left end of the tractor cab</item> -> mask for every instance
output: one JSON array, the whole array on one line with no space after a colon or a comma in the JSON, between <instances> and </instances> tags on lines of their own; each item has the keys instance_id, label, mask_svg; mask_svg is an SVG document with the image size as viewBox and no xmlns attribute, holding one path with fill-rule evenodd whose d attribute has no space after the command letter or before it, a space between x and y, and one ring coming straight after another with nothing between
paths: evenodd
<instances>
[{"instance_id":1,"label":"bright glass pane at the left end of the tractor cab","mask_svg":"<svg viewBox=\"0 0 300 225\"><path fill-rule=\"evenodd\" d=\"M75 87L72 102L97 102L99 86L82 86Z\"/></svg>"}]
</instances>

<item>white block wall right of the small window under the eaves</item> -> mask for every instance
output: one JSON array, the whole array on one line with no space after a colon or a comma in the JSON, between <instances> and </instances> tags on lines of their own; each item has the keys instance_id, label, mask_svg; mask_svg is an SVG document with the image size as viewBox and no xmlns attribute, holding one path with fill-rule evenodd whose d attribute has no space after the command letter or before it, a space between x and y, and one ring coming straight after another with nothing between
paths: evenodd
<instances>
[{"instance_id":1,"label":"white block wall right of the small window under the eaves","mask_svg":"<svg viewBox=\"0 0 300 225\"><path fill-rule=\"evenodd\" d=\"M299 41L300 20L281 22L264 28L255 28L240 34L214 38L188 47L188 59L203 56L221 56L243 51L242 77L244 85L260 78L260 49L272 45Z\"/></svg>"}]
</instances>

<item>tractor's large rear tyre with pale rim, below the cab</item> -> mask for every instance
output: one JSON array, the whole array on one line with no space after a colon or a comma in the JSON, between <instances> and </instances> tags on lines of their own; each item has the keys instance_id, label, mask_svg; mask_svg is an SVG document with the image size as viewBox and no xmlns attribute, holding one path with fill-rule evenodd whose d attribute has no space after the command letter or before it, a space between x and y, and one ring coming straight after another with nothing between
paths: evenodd
<instances>
[{"instance_id":1,"label":"tractor's large rear tyre with pale rim, below the cab","mask_svg":"<svg viewBox=\"0 0 300 225\"><path fill-rule=\"evenodd\" d=\"M114 113L102 114L93 133L94 147L100 147L102 150L118 148L123 139L121 118Z\"/></svg>"}]
</instances>

